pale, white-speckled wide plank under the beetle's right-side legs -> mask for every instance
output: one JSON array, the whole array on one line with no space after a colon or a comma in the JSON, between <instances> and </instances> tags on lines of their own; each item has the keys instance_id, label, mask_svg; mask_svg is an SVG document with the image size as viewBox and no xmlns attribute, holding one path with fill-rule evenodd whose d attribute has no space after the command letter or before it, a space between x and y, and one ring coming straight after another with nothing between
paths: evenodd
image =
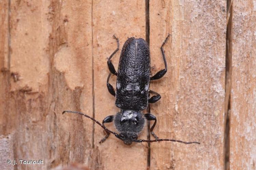
<instances>
[{"instance_id":1,"label":"pale, white-speckled wide plank under the beetle's right-side legs","mask_svg":"<svg viewBox=\"0 0 256 170\"><path fill-rule=\"evenodd\" d=\"M162 98L151 105L159 138L199 141L151 144L151 169L222 169L225 98L226 1L150 1L151 83ZM152 137L151 137L152 138Z\"/></svg>"}]
</instances>

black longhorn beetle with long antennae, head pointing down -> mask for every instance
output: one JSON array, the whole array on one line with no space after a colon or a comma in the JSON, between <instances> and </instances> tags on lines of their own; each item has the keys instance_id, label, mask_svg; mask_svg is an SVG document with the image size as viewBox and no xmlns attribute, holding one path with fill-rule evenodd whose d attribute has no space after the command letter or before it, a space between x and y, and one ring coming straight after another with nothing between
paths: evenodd
<instances>
[{"instance_id":1,"label":"black longhorn beetle with long antennae, head pointing down","mask_svg":"<svg viewBox=\"0 0 256 170\"><path fill-rule=\"evenodd\" d=\"M160 79L167 72L167 63L163 46L166 44L169 36L170 34L168 34L160 48L163 62L165 63L165 69L158 71L153 77L150 77L150 50L147 42L142 38L137 39L131 37L126 40L121 51L118 71L116 72L115 67L111 63L111 58L119 50L119 40L115 37L115 35L113 35L117 41L117 49L110 55L107 62L111 72L107 79L107 87L110 94L115 96L115 105L120 108L120 112L118 112L115 116L107 116L102 121L102 124L93 117L85 115L81 112L63 111L62 114L66 112L77 113L90 118L99 124L107 133L100 143L104 142L109 137L110 133L112 133L118 139L123 140L126 145L131 145L132 142L157 141L200 144L199 142L184 142L174 139L158 139L156 134L153 132L156 125L156 117L150 113L143 114L141 112L143 109L147 108L148 103L155 103L161 98L157 92L149 89L149 85L151 80ZM111 74L117 76L116 91L109 83ZM154 96L150 97L150 93ZM150 128L150 132L155 137L155 140L138 140L138 134L143 130L146 120L154 120L154 124ZM110 123L112 121L114 121L115 127L119 134L112 132L105 127L104 123Z\"/></svg>"}]
</instances>

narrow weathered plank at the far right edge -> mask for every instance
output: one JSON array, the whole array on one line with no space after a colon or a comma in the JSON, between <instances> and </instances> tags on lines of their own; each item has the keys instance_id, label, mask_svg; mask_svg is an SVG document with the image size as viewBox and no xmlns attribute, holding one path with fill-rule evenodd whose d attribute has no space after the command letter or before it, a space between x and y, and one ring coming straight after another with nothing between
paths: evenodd
<instances>
[{"instance_id":1,"label":"narrow weathered plank at the far right edge","mask_svg":"<svg viewBox=\"0 0 256 170\"><path fill-rule=\"evenodd\" d=\"M230 169L256 169L256 1L233 1Z\"/></svg>"}]
</instances>

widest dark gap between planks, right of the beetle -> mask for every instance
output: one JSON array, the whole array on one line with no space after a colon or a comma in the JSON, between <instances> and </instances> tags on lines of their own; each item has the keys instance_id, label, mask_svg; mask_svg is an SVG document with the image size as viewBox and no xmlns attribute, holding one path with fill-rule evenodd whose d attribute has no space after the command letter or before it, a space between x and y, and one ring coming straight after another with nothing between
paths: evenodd
<instances>
[{"instance_id":1,"label":"widest dark gap between planks, right of the beetle","mask_svg":"<svg viewBox=\"0 0 256 170\"><path fill-rule=\"evenodd\" d=\"M225 78L225 130L224 130L224 169L229 170L230 159L230 93L232 70L232 0L227 0L226 33L226 78Z\"/></svg>"}]
</instances>

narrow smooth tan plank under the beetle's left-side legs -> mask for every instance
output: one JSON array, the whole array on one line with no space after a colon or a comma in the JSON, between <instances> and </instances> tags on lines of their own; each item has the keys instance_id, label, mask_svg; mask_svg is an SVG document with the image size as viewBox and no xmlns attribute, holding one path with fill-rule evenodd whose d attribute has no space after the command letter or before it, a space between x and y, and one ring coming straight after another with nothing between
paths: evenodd
<instances>
[{"instance_id":1,"label":"narrow smooth tan plank under the beetle's left-side legs","mask_svg":"<svg viewBox=\"0 0 256 170\"><path fill-rule=\"evenodd\" d=\"M93 1L93 57L94 57L94 94L95 118L102 121L106 116L115 115L119 109L115 98L109 94L106 79L109 74L107 57L116 49L115 34L120 40L120 49L128 37L145 38L145 2L129 1ZM112 58L117 70L120 50ZM116 77L112 76L111 84L115 87ZM106 125L116 131L113 123ZM146 169L147 147L141 143L126 146L123 141L110 135L101 145L99 141L105 136L102 128L95 125L94 144L99 148L102 169ZM146 138L146 130L140 136Z\"/></svg>"}]
</instances>

